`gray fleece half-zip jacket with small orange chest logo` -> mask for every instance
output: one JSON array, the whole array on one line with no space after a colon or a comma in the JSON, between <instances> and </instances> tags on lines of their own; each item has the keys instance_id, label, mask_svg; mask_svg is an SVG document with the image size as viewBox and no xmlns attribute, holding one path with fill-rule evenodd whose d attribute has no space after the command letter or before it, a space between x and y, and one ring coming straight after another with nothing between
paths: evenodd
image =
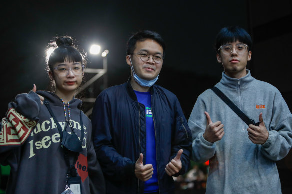
<instances>
[{"instance_id":1,"label":"gray fleece half-zip jacket with small orange chest logo","mask_svg":"<svg viewBox=\"0 0 292 194\"><path fill-rule=\"evenodd\" d=\"M224 72L215 85L250 119L258 122L263 113L269 131L267 141L254 144L247 124L211 89L197 99L188 125L192 131L192 159L210 160L207 194L281 194L275 161L284 158L292 146L292 114L280 92L271 84L247 75L234 79ZM224 124L224 136L211 143L203 138L207 111L212 122Z\"/></svg>"}]
</instances>

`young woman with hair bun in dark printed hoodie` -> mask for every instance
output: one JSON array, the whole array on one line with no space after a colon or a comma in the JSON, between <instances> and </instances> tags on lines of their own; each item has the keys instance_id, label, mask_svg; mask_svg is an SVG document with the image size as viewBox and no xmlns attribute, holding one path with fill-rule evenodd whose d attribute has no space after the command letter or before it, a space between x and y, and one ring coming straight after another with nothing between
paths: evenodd
<instances>
[{"instance_id":1,"label":"young woman with hair bun in dark printed hoodie","mask_svg":"<svg viewBox=\"0 0 292 194\"><path fill-rule=\"evenodd\" d=\"M6 194L105 194L90 119L74 97L85 55L69 36L50 43L54 91L18 94L0 124L0 163L10 165Z\"/></svg>"}]
</instances>

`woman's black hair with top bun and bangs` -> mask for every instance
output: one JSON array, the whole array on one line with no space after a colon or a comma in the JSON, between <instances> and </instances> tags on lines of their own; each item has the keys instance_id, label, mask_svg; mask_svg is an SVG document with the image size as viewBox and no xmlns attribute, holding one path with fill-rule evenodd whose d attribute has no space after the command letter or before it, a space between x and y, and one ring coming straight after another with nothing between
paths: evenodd
<instances>
[{"instance_id":1,"label":"woman's black hair with top bun and bangs","mask_svg":"<svg viewBox=\"0 0 292 194\"><path fill-rule=\"evenodd\" d=\"M86 53L80 53L70 36L55 37L55 41L51 41L47 51L47 71L53 73L53 66L55 63L68 62L81 62L82 65L86 66ZM52 52L48 52L51 51Z\"/></svg>"}]
</instances>

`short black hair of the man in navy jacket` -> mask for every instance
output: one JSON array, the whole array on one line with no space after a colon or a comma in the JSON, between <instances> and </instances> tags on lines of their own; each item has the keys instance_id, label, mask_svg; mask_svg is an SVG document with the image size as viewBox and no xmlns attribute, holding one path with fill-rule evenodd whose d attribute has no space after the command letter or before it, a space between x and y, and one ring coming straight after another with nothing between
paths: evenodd
<instances>
[{"instance_id":1,"label":"short black hair of the man in navy jacket","mask_svg":"<svg viewBox=\"0 0 292 194\"><path fill-rule=\"evenodd\" d=\"M137 41L145 41L146 39L155 40L163 48L163 58L165 57L166 45L160 34L150 30L142 30L133 34L127 42L126 54L129 55L134 52Z\"/></svg>"}]
</instances>

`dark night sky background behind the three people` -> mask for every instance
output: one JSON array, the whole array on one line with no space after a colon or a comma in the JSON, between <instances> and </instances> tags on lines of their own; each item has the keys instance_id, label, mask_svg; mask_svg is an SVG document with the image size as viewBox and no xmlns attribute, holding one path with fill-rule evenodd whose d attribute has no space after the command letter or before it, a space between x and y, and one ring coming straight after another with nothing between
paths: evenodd
<instances>
[{"instance_id":1,"label":"dark night sky background behind the three people","mask_svg":"<svg viewBox=\"0 0 292 194\"><path fill-rule=\"evenodd\" d=\"M91 44L108 49L108 86L122 84L130 69L126 41L149 29L162 35L166 58L157 84L175 93L189 118L200 93L221 78L214 41L224 26L239 25L253 38L251 75L277 87L292 108L292 0L48 0L1 2L1 118L7 104L32 84L46 90L45 49L52 36L69 35L88 53L88 67L101 68ZM94 84L93 97L102 89ZM86 97L88 92L84 92ZM92 95L92 92L91 92ZM251 94L252 95L252 94ZM92 96L91 96L92 97ZM88 106L84 103L84 108ZM84 110L85 112L86 110ZM277 162L283 193L292 191L292 155ZM240 165L240 164L238 164Z\"/></svg>"}]
</instances>

